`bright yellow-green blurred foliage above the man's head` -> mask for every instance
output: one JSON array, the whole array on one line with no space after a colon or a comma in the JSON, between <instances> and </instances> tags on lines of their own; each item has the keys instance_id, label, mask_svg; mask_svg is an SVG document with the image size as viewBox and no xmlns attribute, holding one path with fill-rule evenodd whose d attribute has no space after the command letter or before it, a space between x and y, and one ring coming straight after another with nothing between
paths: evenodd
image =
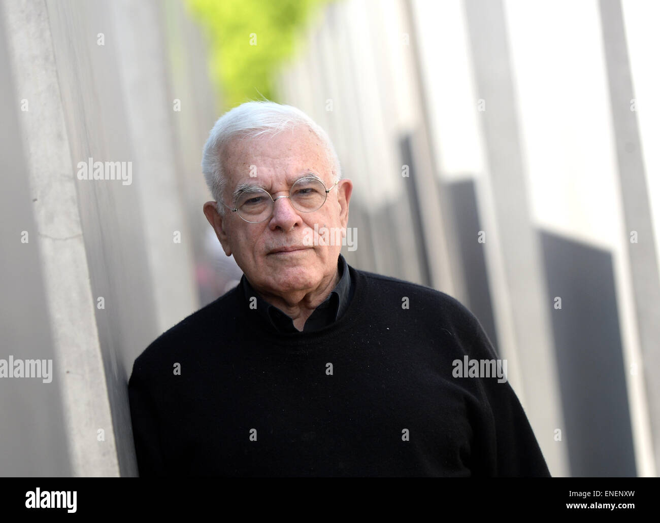
<instances>
[{"instance_id":1,"label":"bright yellow-green blurred foliage above the man's head","mask_svg":"<svg viewBox=\"0 0 660 523\"><path fill-rule=\"evenodd\" d=\"M298 30L327 1L186 0L207 37L225 109L262 96L275 100L275 74L292 55Z\"/></svg>"}]
</instances>

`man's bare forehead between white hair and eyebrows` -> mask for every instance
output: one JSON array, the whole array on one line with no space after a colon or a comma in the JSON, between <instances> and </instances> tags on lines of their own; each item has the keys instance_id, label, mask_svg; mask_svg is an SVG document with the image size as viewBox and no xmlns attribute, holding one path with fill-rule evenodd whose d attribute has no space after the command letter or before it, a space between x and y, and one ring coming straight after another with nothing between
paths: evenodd
<instances>
[{"instance_id":1,"label":"man's bare forehead between white hair and eyebrows","mask_svg":"<svg viewBox=\"0 0 660 523\"><path fill-rule=\"evenodd\" d=\"M324 179L332 170L325 143L307 127L258 138L234 138L224 146L222 155L230 185L255 178L294 181L306 172Z\"/></svg>"}]
</instances>

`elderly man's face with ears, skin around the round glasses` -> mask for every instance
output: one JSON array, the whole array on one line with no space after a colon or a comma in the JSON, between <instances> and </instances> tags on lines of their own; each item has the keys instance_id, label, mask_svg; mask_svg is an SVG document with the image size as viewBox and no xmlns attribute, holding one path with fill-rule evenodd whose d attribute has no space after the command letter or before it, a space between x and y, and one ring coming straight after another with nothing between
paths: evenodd
<instances>
[{"instance_id":1,"label":"elderly man's face with ears, skin around the round glasses","mask_svg":"<svg viewBox=\"0 0 660 523\"><path fill-rule=\"evenodd\" d=\"M333 185L332 164L323 142L307 127L288 129L273 137L232 140L222 154L227 181L223 198L231 207L235 204L232 193L240 183L259 184L273 199L288 196L294 181L308 173L317 175L327 189ZM345 229L351 191L350 180L339 181L315 212L300 212L288 198L278 199L273 214L259 224L242 220L228 208L223 218L211 202L205 204L204 212L226 255L234 255L257 290L280 296L311 292L335 275L341 241L333 237L331 243L335 245L310 245L310 230L314 231L315 224L319 230ZM298 250L273 252L282 247Z\"/></svg>"}]
</instances>

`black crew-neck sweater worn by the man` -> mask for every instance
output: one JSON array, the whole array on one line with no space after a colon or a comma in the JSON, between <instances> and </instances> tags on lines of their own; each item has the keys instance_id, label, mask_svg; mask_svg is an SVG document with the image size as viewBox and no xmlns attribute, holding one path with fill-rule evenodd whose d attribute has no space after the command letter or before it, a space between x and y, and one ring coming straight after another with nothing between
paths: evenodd
<instances>
[{"instance_id":1,"label":"black crew-neck sweater worn by the man","mask_svg":"<svg viewBox=\"0 0 660 523\"><path fill-rule=\"evenodd\" d=\"M349 270L315 332L276 332L234 288L150 344L129 380L140 475L549 476L509 383L452 375L497 357L479 321Z\"/></svg>"}]
</instances>

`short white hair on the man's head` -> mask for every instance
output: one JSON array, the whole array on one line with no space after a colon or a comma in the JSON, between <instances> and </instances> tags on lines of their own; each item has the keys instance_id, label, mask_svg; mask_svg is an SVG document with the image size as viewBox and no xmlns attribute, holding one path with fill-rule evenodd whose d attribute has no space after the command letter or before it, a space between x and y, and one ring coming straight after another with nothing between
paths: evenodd
<instances>
[{"instance_id":1,"label":"short white hair on the man's head","mask_svg":"<svg viewBox=\"0 0 660 523\"><path fill-rule=\"evenodd\" d=\"M245 102L224 113L209 133L202 153L202 171L213 198L220 202L224 195L226 177L222 165L224 146L234 138L270 137L296 127L308 127L325 144L328 159L333 166L333 182L341 179L341 166L327 133L298 108L258 100ZM218 212L224 214L224 205L218 204Z\"/></svg>"}]
</instances>

